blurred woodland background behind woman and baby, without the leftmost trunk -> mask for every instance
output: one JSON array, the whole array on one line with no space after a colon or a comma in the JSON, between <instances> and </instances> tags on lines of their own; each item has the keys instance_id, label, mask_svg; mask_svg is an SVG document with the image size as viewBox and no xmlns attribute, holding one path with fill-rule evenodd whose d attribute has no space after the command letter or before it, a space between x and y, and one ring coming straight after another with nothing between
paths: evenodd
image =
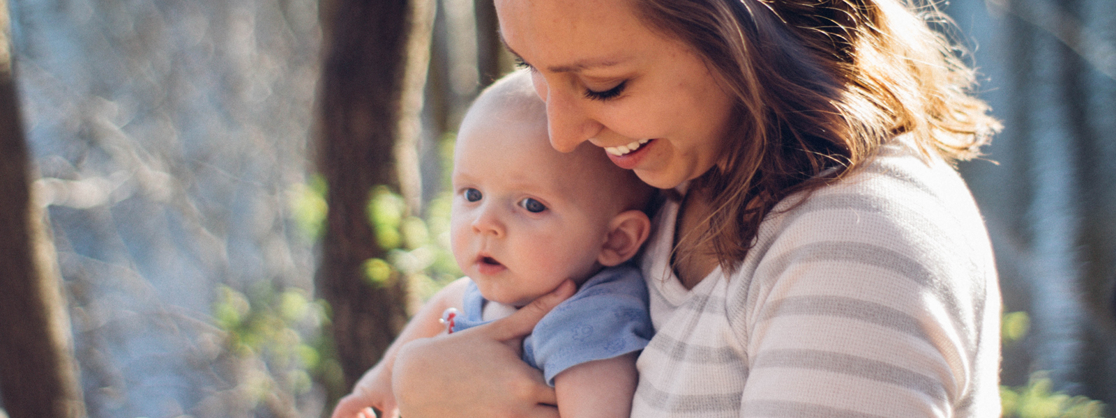
<instances>
[{"instance_id":1,"label":"blurred woodland background behind woman and baby, without the leftmost trunk","mask_svg":"<svg viewBox=\"0 0 1116 418\"><path fill-rule=\"evenodd\" d=\"M9 2L88 416L328 416L458 274L448 144L512 65L491 0L382 3ZM1116 2L942 7L1006 126L960 167L999 263L1006 416L1110 417Z\"/></svg>"}]
</instances>

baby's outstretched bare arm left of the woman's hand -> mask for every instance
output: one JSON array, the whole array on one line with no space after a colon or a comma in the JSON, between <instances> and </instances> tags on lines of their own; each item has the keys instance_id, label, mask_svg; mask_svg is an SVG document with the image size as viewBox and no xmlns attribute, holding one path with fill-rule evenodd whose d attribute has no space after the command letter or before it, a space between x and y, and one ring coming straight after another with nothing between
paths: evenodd
<instances>
[{"instance_id":1,"label":"baby's outstretched bare arm left of the woman's hand","mask_svg":"<svg viewBox=\"0 0 1116 418\"><path fill-rule=\"evenodd\" d=\"M400 336L392 342L392 346L384 352L384 358L369 369L360 380L353 387L353 392L341 398L334 408L333 418L365 418L365 408L374 407L384 412L385 417L395 416L395 397L392 395L392 367L395 363L395 356L403 344L420 338L437 336L445 327L439 322L442 312L448 308L461 310L462 295L465 293L468 278L461 278L448 284L434 294L419 310L407 325L403 328ZM367 418L373 418L367 416Z\"/></svg>"}]
</instances>

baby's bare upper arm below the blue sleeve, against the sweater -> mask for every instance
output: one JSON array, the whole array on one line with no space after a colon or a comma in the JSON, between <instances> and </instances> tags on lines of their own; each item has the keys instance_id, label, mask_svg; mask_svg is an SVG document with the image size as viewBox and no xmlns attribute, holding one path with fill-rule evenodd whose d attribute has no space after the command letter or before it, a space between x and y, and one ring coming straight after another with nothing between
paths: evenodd
<instances>
[{"instance_id":1,"label":"baby's bare upper arm below the blue sleeve, against the sweater","mask_svg":"<svg viewBox=\"0 0 1116 418\"><path fill-rule=\"evenodd\" d=\"M638 351L580 363L555 376L561 418L616 417L632 414Z\"/></svg>"}]
</instances>

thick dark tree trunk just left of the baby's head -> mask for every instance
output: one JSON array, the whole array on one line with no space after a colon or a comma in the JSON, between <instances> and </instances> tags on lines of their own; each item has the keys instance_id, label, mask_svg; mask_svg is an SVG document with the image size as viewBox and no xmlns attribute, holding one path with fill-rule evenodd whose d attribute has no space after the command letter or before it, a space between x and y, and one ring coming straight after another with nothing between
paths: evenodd
<instances>
[{"instance_id":1,"label":"thick dark tree trunk just left of the baby's head","mask_svg":"<svg viewBox=\"0 0 1116 418\"><path fill-rule=\"evenodd\" d=\"M377 185L415 187L434 9L430 0L331 0L324 9L333 16L325 25L318 171L329 186L329 213L316 281L333 310L331 336L350 388L406 320L400 274L381 285L365 279L363 263L385 255L365 207Z\"/></svg>"}]
</instances>

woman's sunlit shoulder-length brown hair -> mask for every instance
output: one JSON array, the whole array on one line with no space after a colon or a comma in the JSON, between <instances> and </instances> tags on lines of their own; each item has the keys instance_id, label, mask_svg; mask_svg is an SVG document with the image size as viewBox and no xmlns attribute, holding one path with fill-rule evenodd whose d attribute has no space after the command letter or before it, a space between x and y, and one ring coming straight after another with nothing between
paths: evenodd
<instances>
[{"instance_id":1,"label":"woman's sunlit shoulder-length brown hair","mask_svg":"<svg viewBox=\"0 0 1116 418\"><path fill-rule=\"evenodd\" d=\"M725 271L760 222L897 135L949 162L980 155L999 129L973 96L963 50L931 25L934 4L903 0L633 0L652 28L687 43L738 100L727 157L691 187L711 198L710 249ZM917 0L912 0L917 1Z\"/></svg>"}]
</instances>

